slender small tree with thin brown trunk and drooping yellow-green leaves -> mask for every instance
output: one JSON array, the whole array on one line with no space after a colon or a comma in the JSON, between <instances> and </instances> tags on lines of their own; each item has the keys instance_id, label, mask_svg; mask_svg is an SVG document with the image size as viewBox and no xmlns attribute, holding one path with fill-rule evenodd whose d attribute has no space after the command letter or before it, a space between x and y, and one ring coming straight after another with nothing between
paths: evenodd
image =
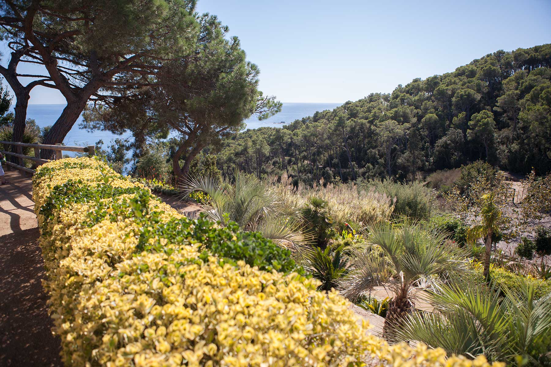
<instances>
[{"instance_id":1,"label":"slender small tree with thin brown trunk and drooping yellow-green leaves","mask_svg":"<svg viewBox=\"0 0 551 367\"><path fill-rule=\"evenodd\" d=\"M467 241L471 244L477 239L484 238L486 252L484 255L484 277L489 279L491 243L493 236L499 233L499 223L503 212L496 205L496 193L491 191L482 196L482 205L480 207L480 223L467 229Z\"/></svg>"}]
</instances>

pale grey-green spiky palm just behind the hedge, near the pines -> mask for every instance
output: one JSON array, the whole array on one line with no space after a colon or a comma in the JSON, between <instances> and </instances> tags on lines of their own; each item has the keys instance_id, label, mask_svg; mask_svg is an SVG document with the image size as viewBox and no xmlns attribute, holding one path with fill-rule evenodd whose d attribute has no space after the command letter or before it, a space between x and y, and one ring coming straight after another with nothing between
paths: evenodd
<instances>
[{"instance_id":1,"label":"pale grey-green spiky palm just behind the hedge, near the pines","mask_svg":"<svg viewBox=\"0 0 551 367\"><path fill-rule=\"evenodd\" d=\"M191 176L180 190L184 196L195 191L208 194L210 201L201 206L213 221L234 221L242 229L261 232L291 249L308 242L301 233L299 209L280 200L272 185L238 170L234 177L235 184L230 184L208 174Z\"/></svg>"}]
</instances>

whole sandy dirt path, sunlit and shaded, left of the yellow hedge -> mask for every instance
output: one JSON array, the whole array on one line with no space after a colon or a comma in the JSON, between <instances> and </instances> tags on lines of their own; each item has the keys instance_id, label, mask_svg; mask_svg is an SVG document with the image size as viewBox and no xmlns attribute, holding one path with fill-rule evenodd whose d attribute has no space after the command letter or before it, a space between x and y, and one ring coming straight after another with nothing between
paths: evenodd
<instances>
[{"instance_id":1,"label":"whole sandy dirt path, sunlit and shaded, left of the yellow hedge","mask_svg":"<svg viewBox=\"0 0 551 367\"><path fill-rule=\"evenodd\" d=\"M51 333L32 185L6 172L0 186L0 365L61 366L60 341Z\"/></svg>"}]
</instances>

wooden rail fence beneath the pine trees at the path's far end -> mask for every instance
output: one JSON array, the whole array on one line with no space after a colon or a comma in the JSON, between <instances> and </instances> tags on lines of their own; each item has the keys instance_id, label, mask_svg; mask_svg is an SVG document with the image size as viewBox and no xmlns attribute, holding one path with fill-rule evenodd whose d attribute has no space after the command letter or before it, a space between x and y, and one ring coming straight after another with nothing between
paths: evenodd
<instances>
[{"instance_id":1,"label":"wooden rail fence beneath the pine trees at the path's far end","mask_svg":"<svg viewBox=\"0 0 551 367\"><path fill-rule=\"evenodd\" d=\"M10 162L8 160L6 160L6 164L8 165L8 167L14 167L19 169L21 171L21 174L26 174L26 173L34 174L36 167L42 165L43 163L50 162L50 160L40 158L41 149L48 149L48 150L55 151L56 153L54 158L55 160L63 158L63 154L62 154L63 151L88 153L89 156L93 156L95 154L95 145L89 145L89 146L67 146L67 145L61 145L61 144L47 145L47 144L15 143L14 141L2 141L2 140L0 140L0 144L3 144L4 147L6 147L6 145L12 145L15 147L15 151L17 151L17 153L6 151L6 150L0 150L0 153L2 153L4 157L12 156L12 157L18 158L19 164ZM23 154L24 147L33 148L35 152L34 157L24 155ZM33 168L25 167L25 160L34 162Z\"/></svg>"}]
</instances>

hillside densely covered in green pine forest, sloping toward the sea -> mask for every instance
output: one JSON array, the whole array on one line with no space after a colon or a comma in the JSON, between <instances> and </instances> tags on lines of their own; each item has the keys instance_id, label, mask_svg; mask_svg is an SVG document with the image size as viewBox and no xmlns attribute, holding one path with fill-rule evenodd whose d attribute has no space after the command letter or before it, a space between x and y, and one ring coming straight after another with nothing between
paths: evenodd
<instances>
[{"instance_id":1,"label":"hillside densely covered in green pine forest, sloping toward the sea","mask_svg":"<svg viewBox=\"0 0 551 367\"><path fill-rule=\"evenodd\" d=\"M551 44L496 51L454 72L414 79L283 128L247 130L218 155L258 177L343 182L485 160L513 172L551 170Z\"/></svg>"}]
</instances>

